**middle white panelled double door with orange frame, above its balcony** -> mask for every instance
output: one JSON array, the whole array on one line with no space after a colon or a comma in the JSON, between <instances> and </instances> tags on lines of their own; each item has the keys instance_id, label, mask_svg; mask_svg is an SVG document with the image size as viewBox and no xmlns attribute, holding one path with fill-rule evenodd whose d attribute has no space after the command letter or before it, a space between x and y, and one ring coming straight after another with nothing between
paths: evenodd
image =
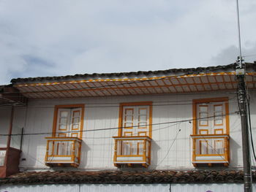
<instances>
[{"instance_id":1,"label":"middle white panelled double door with orange frame, above its balcony","mask_svg":"<svg viewBox=\"0 0 256 192\"><path fill-rule=\"evenodd\" d=\"M151 137L152 102L120 104L119 137Z\"/></svg>"}]
</instances>

